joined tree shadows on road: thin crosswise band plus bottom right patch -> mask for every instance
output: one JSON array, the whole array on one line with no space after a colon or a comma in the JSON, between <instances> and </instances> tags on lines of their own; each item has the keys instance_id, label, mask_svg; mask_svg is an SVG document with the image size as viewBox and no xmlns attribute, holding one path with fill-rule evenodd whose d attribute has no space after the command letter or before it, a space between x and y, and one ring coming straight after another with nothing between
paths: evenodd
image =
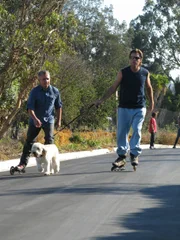
<instances>
[{"instance_id":1,"label":"joined tree shadows on road: thin crosswise band plus bottom right patch","mask_svg":"<svg viewBox=\"0 0 180 240\"><path fill-rule=\"evenodd\" d=\"M155 207L141 208L139 212L119 216L113 219L113 224L127 229L112 233L109 236L97 236L91 240L179 240L180 239L180 185L168 185L159 187L144 187L146 184L82 184L55 188L33 188L11 190L1 193L7 195L46 195L46 194L70 194L72 195L128 195L143 194L145 201L154 201ZM147 185L146 185L147 186ZM108 223L106 223L107 225ZM112 222L111 222L112 224Z\"/></svg>"}]
</instances>

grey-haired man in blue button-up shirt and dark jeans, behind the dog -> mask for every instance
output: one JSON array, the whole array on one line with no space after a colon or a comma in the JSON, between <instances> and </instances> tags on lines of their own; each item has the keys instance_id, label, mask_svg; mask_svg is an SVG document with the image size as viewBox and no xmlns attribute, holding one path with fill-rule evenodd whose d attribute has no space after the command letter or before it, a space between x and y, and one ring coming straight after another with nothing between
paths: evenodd
<instances>
[{"instance_id":1,"label":"grey-haired man in blue button-up shirt and dark jeans, behind the dog","mask_svg":"<svg viewBox=\"0 0 180 240\"><path fill-rule=\"evenodd\" d=\"M43 129L45 134L45 144L54 142L54 124L56 128L61 126L62 102L60 93L57 88L50 85L50 73L40 71L38 73L39 85L30 92L27 110L29 113L29 127L27 139L23 148L18 170L23 170L28 164L32 144L35 142L40 130ZM56 110L56 123L55 111Z\"/></svg>"}]
</instances>

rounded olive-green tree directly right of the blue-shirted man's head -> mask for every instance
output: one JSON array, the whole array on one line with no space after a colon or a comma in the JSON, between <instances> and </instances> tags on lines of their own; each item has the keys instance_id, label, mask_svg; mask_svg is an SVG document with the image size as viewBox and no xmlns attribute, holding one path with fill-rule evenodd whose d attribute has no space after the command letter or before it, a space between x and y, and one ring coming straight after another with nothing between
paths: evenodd
<instances>
[{"instance_id":1,"label":"rounded olive-green tree directly right of the blue-shirted man's head","mask_svg":"<svg viewBox=\"0 0 180 240\"><path fill-rule=\"evenodd\" d=\"M55 62L54 62L55 61ZM96 93L93 86L93 73L88 63L78 55L63 54L61 59L49 59L48 63L53 65L53 84L60 90L63 102L63 124L66 125L82 110L86 110L95 99ZM92 112L91 112L92 116ZM83 121L76 121L71 128L77 128L85 124L91 127L93 118L89 115L83 116Z\"/></svg>"}]
</instances>

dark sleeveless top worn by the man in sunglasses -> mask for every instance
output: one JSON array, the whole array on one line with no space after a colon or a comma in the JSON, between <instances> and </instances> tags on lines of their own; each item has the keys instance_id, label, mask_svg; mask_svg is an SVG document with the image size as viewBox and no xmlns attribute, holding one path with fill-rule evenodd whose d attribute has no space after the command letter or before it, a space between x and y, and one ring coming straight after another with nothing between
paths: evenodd
<instances>
[{"instance_id":1,"label":"dark sleeveless top worn by the man in sunglasses","mask_svg":"<svg viewBox=\"0 0 180 240\"><path fill-rule=\"evenodd\" d=\"M119 107L122 108L143 108L146 106L145 82L148 70L141 67L138 72L133 72L129 67L122 71L120 83Z\"/></svg>"}]
</instances>

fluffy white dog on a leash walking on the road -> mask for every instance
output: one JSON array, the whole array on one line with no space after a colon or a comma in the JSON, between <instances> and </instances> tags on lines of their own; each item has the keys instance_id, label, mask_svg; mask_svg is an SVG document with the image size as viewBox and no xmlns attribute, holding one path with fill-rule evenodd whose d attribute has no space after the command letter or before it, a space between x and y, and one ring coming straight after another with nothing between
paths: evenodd
<instances>
[{"instance_id":1,"label":"fluffy white dog on a leash walking on the road","mask_svg":"<svg viewBox=\"0 0 180 240\"><path fill-rule=\"evenodd\" d=\"M34 143L31 153L36 157L39 172L50 175L60 171L59 151L55 144Z\"/></svg>"}]
</instances>

